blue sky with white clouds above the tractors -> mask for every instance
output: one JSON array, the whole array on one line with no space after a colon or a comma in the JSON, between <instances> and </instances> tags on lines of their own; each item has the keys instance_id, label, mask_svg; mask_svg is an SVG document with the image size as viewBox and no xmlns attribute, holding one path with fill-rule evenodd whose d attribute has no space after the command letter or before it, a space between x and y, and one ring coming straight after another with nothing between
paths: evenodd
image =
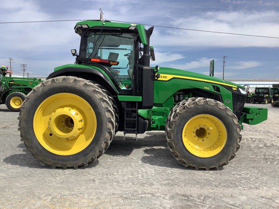
<instances>
[{"instance_id":1,"label":"blue sky with white clouds above the tractors","mask_svg":"<svg viewBox=\"0 0 279 209\"><path fill-rule=\"evenodd\" d=\"M47 77L74 63L75 24L99 19L99 8L107 20L155 26L152 66L209 75L215 60L218 78L224 69L224 79L279 79L278 0L0 0L0 65L12 58L15 76L25 64L25 76Z\"/></svg>"}]
</instances>

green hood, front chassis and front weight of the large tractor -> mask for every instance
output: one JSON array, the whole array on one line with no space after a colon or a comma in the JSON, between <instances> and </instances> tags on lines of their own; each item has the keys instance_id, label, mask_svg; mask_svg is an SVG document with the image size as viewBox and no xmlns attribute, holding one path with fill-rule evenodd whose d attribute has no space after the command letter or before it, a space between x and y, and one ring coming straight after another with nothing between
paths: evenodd
<instances>
[{"instance_id":1,"label":"green hood, front chassis and front weight of the large tractor","mask_svg":"<svg viewBox=\"0 0 279 209\"><path fill-rule=\"evenodd\" d=\"M221 95L223 101L230 101L228 103L224 102L224 104L233 110L233 98L231 91L239 88L242 89L243 92L245 91L245 88L241 85L189 71L172 68L160 68L158 73L160 73L161 76L158 80L155 80L155 106L152 108L151 125L149 130L165 129L166 120L174 106L174 92L187 89L208 90ZM215 88L217 87L218 91L215 91L213 86L215 86ZM188 99L190 97L191 95L184 95L183 99ZM150 114L147 114L147 116L150 116ZM242 123L255 125L266 119L266 108L244 107L242 116L239 119L239 124L243 129Z\"/></svg>"}]
</instances>

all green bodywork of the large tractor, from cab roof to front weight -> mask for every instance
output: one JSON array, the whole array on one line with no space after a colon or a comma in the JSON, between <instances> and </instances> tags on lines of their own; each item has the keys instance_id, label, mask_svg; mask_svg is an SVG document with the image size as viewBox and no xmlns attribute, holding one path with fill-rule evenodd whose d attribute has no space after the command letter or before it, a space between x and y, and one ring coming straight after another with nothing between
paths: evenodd
<instances>
[{"instance_id":1,"label":"all green bodywork of the large tractor, from cab roof to front weight","mask_svg":"<svg viewBox=\"0 0 279 209\"><path fill-rule=\"evenodd\" d=\"M137 31L140 37L140 43L144 46L149 45L149 40L143 25L86 20L78 22L75 27L75 31L81 35L83 31L94 27L96 27L98 30L103 30L103 28L108 27L109 29L115 28L124 29L124 31ZM136 56L139 57L139 55ZM78 68L95 69L102 73L109 80L109 82L111 82L114 91L116 92L114 97L116 97L120 103L142 101L141 96L133 96L131 94L125 95L121 93L121 90L115 85L115 82L113 82L111 76L109 76L106 71L97 66L87 65L84 63L68 64L57 67L54 71L60 71L65 68L77 68L77 71ZM233 94L238 94L242 95L242 97L245 97L244 102L239 104L241 105L240 109L242 110L244 106L247 93L245 87L243 86L216 77L172 68L161 67L157 74L160 74L160 76L158 79L154 80L154 107L152 109L138 110L138 115L141 118L148 120L147 130L165 130L166 120L171 112L171 109L180 101L182 101L177 101L176 97L178 95L180 96L180 99L185 100L194 97L196 94L193 92L198 91L205 94L208 93L211 96L216 96L218 101L223 102L226 106L233 110L233 108L235 108L235 106L233 106ZM126 84L130 84L129 82L129 79L127 79ZM119 106L118 108L122 107ZM248 123L250 125L258 124L267 119L267 109L244 107L241 116L238 118L242 128L242 123Z\"/></svg>"}]
</instances>

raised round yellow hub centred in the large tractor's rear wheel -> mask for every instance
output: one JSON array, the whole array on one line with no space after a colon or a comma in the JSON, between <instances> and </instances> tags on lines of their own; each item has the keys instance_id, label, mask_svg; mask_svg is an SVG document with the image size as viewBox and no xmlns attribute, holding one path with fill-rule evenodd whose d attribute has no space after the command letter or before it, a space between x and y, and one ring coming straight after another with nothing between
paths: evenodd
<instances>
[{"instance_id":1,"label":"raised round yellow hub centred in the large tractor's rear wheel","mask_svg":"<svg viewBox=\"0 0 279 209\"><path fill-rule=\"evenodd\" d=\"M48 119L49 135L63 141L76 138L83 127L82 115L71 107L56 109Z\"/></svg>"}]
</instances>

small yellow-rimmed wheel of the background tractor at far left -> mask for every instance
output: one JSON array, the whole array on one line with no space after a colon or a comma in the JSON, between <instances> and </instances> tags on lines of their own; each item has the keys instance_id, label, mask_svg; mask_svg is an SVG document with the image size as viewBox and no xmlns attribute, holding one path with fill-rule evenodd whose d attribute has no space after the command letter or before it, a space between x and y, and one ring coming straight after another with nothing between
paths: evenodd
<instances>
[{"instance_id":1,"label":"small yellow-rimmed wheel of the background tractor at far left","mask_svg":"<svg viewBox=\"0 0 279 209\"><path fill-rule=\"evenodd\" d=\"M25 94L22 92L13 92L9 94L6 98L6 106L12 112L19 112L20 106L25 100Z\"/></svg>"}]
</instances>

